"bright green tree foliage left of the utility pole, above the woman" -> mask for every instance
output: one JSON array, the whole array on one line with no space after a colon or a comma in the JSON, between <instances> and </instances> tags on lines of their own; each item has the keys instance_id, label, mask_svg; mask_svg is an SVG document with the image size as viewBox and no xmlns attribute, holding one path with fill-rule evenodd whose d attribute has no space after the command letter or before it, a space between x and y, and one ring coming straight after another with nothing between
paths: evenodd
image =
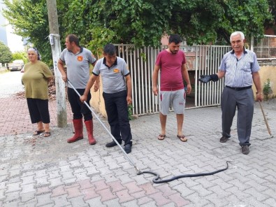
<instances>
[{"instance_id":1,"label":"bright green tree foliage left of the utility pole, above the woman","mask_svg":"<svg viewBox=\"0 0 276 207\"><path fill-rule=\"evenodd\" d=\"M3 16L13 26L15 34L28 38L29 43L32 43L40 51L43 62L51 64L48 11L45 1L3 0L3 3L7 8L3 9Z\"/></svg>"}]
</instances>

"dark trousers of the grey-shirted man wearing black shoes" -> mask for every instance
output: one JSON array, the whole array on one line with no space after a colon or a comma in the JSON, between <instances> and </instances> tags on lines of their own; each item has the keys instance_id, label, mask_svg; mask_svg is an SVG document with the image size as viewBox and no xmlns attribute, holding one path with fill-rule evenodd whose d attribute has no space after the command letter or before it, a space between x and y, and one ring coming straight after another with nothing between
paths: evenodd
<instances>
[{"instance_id":1,"label":"dark trousers of the grey-shirted man wearing black shoes","mask_svg":"<svg viewBox=\"0 0 276 207\"><path fill-rule=\"evenodd\" d=\"M129 115L126 102L126 91L107 94L103 92L108 123L112 136L117 141L124 141L124 145L132 145L131 127L129 124Z\"/></svg>"}]
</instances>

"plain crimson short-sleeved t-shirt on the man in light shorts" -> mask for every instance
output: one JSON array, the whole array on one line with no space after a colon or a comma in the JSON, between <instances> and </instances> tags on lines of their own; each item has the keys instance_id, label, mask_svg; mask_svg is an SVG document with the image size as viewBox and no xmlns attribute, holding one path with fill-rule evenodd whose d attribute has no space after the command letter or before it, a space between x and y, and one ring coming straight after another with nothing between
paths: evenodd
<instances>
[{"instance_id":1,"label":"plain crimson short-sleeved t-shirt on the man in light shorts","mask_svg":"<svg viewBox=\"0 0 276 207\"><path fill-rule=\"evenodd\" d=\"M186 63L184 51L179 50L176 54L167 50L159 52L155 65L160 66L160 90L181 90L184 88L182 78L182 64Z\"/></svg>"}]
</instances>

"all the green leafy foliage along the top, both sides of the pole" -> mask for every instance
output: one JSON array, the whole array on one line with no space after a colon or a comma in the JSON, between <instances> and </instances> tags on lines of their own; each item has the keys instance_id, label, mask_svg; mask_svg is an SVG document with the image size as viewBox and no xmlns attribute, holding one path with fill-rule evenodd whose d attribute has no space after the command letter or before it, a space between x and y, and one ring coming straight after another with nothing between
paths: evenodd
<instances>
[{"instance_id":1,"label":"all the green leafy foliage along the top, both sides of the pole","mask_svg":"<svg viewBox=\"0 0 276 207\"><path fill-rule=\"evenodd\" d=\"M15 33L29 37L51 59L45 1L3 3L3 15ZM172 33L189 45L227 43L235 30L258 38L265 23L273 21L268 8L268 0L57 0L61 41L76 34L93 50L94 43L102 48L106 42L159 46L161 37Z\"/></svg>"}]
</instances>

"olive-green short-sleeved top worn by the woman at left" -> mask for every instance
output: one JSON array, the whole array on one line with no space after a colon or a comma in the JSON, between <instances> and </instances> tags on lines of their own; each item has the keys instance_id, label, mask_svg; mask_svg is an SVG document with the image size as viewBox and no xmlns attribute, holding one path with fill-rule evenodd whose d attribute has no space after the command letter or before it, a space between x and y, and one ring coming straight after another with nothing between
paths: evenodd
<instances>
[{"instance_id":1,"label":"olive-green short-sleeved top worn by the woman at left","mask_svg":"<svg viewBox=\"0 0 276 207\"><path fill-rule=\"evenodd\" d=\"M52 71L41 61L28 62L24 66L22 81L25 87L25 97L31 99L48 99L48 78L52 77Z\"/></svg>"}]
</instances>

